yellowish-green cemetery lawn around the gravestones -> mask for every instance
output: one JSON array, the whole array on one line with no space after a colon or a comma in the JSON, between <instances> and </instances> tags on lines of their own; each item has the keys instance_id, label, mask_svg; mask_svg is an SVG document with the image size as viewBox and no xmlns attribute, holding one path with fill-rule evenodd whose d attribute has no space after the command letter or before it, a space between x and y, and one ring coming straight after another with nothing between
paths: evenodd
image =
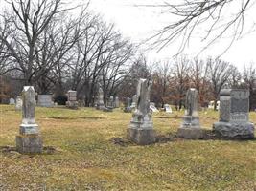
<instances>
[{"instance_id":1,"label":"yellowish-green cemetery lawn around the gravestones","mask_svg":"<svg viewBox=\"0 0 256 191\"><path fill-rule=\"evenodd\" d=\"M120 109L38 107L45 150L30 156L12 151L21 113L0 105L0 190L255 190L256 139L176 138L182 114L154 114L160 141L137 146L125 138L131 114ZM218 116L199 113L208 130Z\"/></svg>"}]
</instances>

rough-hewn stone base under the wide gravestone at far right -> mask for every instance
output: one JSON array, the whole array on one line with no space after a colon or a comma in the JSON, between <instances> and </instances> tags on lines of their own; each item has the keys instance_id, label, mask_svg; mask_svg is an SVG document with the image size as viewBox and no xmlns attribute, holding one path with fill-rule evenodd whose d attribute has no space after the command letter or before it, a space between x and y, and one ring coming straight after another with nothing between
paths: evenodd
<instances>
[{"instance_id":1,"label":"rough-hewn stone base under the wide gravestone at far right","mask_svg":"<svg viewBox=\"0 0 256 191\"><path fill-rule=\"evenodd\" d=\"M254 125L250 122L230 123L215 122L213 130L223 138L252 139L254 138Z\"/></svg>"}]
</instances>

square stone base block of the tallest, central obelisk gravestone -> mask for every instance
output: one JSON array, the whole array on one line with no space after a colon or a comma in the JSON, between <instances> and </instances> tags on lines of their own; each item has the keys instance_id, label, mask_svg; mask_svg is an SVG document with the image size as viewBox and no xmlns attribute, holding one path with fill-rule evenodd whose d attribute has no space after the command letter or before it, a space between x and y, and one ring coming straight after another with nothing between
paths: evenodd
<instances>
[{"instance_id":1,"label":"square stone base block of the tallest, central obelisk gravestone","mask_svg":"<svg viewBox=\"0 0 256 191\"><path fill-rule=\"evenodd\" d=\"M147 145L155 142L153 129L128 128L128 139L139 145Z\"/></svg>"}]
</instances>

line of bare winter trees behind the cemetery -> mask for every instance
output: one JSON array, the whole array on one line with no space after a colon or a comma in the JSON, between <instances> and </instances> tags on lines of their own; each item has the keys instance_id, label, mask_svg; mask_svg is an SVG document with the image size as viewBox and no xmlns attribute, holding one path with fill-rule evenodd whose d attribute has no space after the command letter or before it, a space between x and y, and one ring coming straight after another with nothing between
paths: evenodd
<instances>
[{"instance_id":1,"label":"line of bare winter trees behind the cemetery","mask_svg":"<svg viewBox=\"0 0 256 191\"><path fill-rule=\"evenodd\" d=\"M183 105L189 87L198 89L201 105L218 100L223 87L255 92L255 66L235 66L221 59L148 63L137 48L87 7L67 8L63 0L9 1L0 15L0 101L33 85L38 94L65 98L76 90L86 106L94 105L98 87L125 100L135 94L140 77L151 78L151 100L159 107ZM74 11L77 12L76 16ZM251 106L252 107L252 106Z\"/></svg>"}]
</instances>

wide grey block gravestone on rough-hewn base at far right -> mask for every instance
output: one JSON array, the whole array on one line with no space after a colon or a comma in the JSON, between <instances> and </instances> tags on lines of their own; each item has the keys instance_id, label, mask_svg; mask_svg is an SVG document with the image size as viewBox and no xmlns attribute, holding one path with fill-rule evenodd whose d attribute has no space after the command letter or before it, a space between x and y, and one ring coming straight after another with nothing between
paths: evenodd
<instances>
[{"instance_id":1,"label":"wide grey block gravestone on rough-hewn base at far right","mask_svg":"<svg viewBox=\"0 0 256 191\"><path fill-rule=\"evenodd\" d=\"M220 120L213 129L224 138L254 138L254 125L249 122L249 91L222 89Z\"/></svg>"}]
</instances>

